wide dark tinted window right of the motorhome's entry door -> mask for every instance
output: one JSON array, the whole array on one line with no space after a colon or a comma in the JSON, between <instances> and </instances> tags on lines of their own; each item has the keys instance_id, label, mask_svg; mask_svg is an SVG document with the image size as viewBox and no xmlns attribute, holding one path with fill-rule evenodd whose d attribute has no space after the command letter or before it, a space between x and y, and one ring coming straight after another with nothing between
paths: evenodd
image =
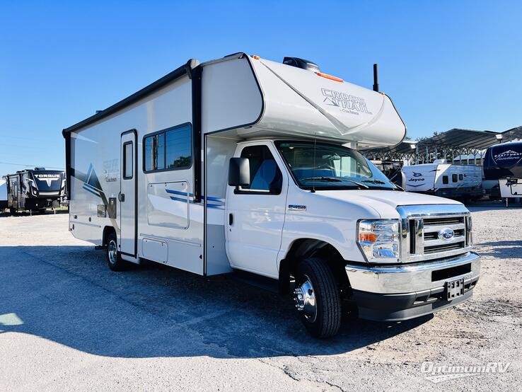
<instances>
[{"instance_id":1,"label":"wide dark tinted window right of the motorhome's entry door","mask_svg":"<svg viewBox=\"0 0 522 392\"><path fill-rule=\"evenodd\" d=\"M144 137L144 171L168 171L192 166L192 126L164 129Z\"/></svg>"}]
</instances>

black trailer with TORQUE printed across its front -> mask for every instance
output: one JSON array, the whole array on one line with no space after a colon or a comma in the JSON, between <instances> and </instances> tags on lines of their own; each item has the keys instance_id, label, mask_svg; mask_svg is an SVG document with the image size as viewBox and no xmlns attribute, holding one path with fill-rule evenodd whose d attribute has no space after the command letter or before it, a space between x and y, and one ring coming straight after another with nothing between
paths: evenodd
<instances>
[{"instance_id":1,"label":"black trailer with TORQUE printed across its front","mask_svg":"<svg viewBox=\"0 0 522 392\"><path fill-rule=\"evenodd\" d=\"M47 207L59 207L65 196L64 171L35 168L5 175L4 180L11 214L20 210L45 212Z\"/></svg>"}]
</instances>

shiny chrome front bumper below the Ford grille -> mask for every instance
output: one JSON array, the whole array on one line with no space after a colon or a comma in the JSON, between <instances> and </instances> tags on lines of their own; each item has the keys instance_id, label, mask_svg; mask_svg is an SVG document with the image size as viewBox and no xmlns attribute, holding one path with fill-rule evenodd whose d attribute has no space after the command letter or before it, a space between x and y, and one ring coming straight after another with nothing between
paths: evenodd
<instances>
[{"instance_id":1,"label":"shiny chrome front bumper below the Ford grille","mask_svg":"<svg viewBox=\"0 0 522 392\"><path fill-rule=\"evenodd\" d=\"M468 264L470 268L468 271ZM465 272L459 272L462 266ZM468 252L453 258L403 265L346 265L352 289L376 294L404 294L431 290L439 292L445 282L464 278L465 286L477 282L480 275L480 256ZM448 277L444 277L446 271ZM433 272L435 272L433 274ZM439 279L442 277L441 279Z\"/></svg>"}]
</instances>

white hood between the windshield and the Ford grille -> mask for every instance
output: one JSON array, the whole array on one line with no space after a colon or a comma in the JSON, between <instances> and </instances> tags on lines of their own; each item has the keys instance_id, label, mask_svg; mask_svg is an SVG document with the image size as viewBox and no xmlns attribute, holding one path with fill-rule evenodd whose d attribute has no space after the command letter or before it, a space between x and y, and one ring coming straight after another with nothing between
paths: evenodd
<instances>
[{"instance_id":1,"label":"white hood between the windshield and the Ford grille","mask_svg":"<svg viewBox=\"0 0 522 392\"><path fill-rule=\"evenodd\" d=\"M396 209L399 206L422 204L462 205L462 203L456 200L444 197L395 190L318 190L315 194L329 199L367 205L375 209L381 215L381 218L385 219L396 218Z\"/></svg>"}]
</instances>

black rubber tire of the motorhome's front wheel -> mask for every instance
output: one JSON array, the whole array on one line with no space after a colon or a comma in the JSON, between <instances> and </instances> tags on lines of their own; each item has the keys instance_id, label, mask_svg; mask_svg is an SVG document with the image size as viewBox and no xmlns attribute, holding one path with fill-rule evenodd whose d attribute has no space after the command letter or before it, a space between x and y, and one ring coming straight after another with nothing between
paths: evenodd
<instances>
[{"instance_id":1,"label":"black rubber tire of the motorhome's front wheel","mask_svg":"<svg viewBox=\"0 0 522 392\"><path fill-rule=\"evenodd\" d=\"M315 317L300 311L301 321L315 338L330 338L341 326L342 301L339 284L322 258L306 258L297 266L296 287L306 280L311 282L315 294Z\"/></svg>"}]
</instances>

